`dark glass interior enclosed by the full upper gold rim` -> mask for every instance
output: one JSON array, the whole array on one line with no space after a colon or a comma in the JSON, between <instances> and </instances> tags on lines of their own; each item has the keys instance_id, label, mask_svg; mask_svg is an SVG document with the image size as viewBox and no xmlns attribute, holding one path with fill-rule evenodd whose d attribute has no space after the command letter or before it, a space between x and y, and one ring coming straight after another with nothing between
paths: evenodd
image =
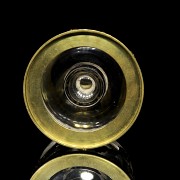
<instances>
[{"instance_id":1,"label":"dark glass interior enclosed by the full upper gold rim","mask_svg":"<svg viewBox=\"0 0 180 180\"><path fill-rule=\"evenodd\" d=\"M41 91L58 123L75 131L90 131L118 115L126 82L110 55L94 47L78 47L64 51L46 68Z\"/></svg>"}]
</instances>

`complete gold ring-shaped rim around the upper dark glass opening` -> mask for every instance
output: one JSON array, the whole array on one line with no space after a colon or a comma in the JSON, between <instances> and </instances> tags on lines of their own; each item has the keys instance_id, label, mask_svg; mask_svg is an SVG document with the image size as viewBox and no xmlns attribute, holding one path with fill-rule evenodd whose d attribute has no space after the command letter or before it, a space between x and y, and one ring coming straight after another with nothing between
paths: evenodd
<instances>
[{"instance_id":1,"label":"complete gold ring-shaped rim around the upper dark glass opening","mask_svg":"<svg viewBox=\"0 0 180 180\"><path fill-rule=\"evenodd\" d=\"M96 131L78 132L61 126L47 110L41 96L45 67L58 54L79 46L95 47L108 53L121 67L126 81L126 99L121 111ZM104 32L77 29L51 38L36 51L25 72L23 95L29 115L42 133L65 146L87 149L117 140L133 125L142 106L144 84L134 55L123 43Z\"/></svg>"}]
</instances>

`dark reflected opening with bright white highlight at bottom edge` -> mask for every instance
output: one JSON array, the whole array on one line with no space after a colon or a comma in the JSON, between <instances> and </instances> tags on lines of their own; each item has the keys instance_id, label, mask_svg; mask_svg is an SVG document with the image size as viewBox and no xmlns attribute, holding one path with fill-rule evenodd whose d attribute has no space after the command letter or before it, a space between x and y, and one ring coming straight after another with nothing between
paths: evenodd
<instances>
[{"instance_id":1,"label":"dark reflected opening with bright white highlight at bottom edge","mask_svg":"<svg viewBox=\"0 0 180 180\"><path fill-rule=\"evenodd\" d=\"M56 173L50 180L111 180L111 178L96 169L77 166Z\"/></svg>"}]
</instances>

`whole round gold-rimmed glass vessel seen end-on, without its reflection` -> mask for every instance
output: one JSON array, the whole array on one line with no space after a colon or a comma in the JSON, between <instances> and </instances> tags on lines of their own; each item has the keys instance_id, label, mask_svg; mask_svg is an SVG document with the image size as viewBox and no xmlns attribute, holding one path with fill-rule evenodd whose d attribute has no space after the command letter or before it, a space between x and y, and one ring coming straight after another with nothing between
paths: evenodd
<instances>
[{"instance_id":1,"label":"whole round gold-rimmed glass vessel seen end-on, without its reflection","mask_svg":"<svg viewBox=\"0 0 180 180\"><path fill-rule=\"evenodd\" d=\"M26 69L23 95L48 138L89 149L121 137L135 122L144 84L131 51L104 32L77 29L44 43Z\"/></svg>"}]
</instances>

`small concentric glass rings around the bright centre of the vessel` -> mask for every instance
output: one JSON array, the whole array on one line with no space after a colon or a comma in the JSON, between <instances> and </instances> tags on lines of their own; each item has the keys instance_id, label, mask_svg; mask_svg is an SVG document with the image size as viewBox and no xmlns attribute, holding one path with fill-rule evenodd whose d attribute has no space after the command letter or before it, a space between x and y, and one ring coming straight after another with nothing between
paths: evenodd
<instances>
[{"instance_id":1,"label":"small concentric glass rings around the bright centre of the vessel","mask_svg":"<svg viewBox=\"0 0 180 180\"><path fill-rule=\"evenodd\" d=\"M106 94L108 79L103 69L93 63L73 65L64 78L64 92L69 102L77 107L92 107Z\"/></svg>"}]
</instances>

